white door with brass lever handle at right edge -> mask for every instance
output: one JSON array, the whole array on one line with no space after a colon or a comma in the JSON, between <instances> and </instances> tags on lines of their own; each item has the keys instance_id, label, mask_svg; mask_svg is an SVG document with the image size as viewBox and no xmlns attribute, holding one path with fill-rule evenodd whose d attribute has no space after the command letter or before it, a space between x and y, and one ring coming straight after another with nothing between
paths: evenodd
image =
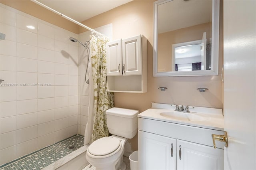
<instances>
[{"instance_id":1,"label":"white door with brass lever handle at right edge","mask_svg":"<svg viewBox=\"0 0 256 170\"><path fill-rule=\"evenodd\" d=\"M256 1L224 0L225 170L256 170Z\"/></svg>"}]
</instances>

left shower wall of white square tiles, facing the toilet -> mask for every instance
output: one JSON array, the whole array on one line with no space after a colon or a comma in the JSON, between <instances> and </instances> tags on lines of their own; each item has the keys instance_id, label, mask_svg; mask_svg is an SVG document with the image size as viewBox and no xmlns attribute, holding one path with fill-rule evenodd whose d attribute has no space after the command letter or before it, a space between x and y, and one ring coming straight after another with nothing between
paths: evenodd
<instances>
[{"instance_id":1,"label":"left shower wall of white square tiles, facing the toilet","mask_svg":"<svg viewBox=\"0 0 256 170\"><path fill-rule=\"evenodd\" d=\"M0 32L6 34L0 41L2 165L77 134L80 108L78 43L68 39L78 34L0 8Z\"/></svg>"}]
</instances>

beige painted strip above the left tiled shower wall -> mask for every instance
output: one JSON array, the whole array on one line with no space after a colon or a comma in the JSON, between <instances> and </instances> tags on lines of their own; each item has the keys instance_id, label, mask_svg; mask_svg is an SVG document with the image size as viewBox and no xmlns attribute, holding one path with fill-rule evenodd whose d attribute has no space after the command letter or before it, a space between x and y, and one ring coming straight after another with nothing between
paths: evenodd
<instances>
[{"instance_id":1,"label":"beige painted strip above the left tiled shower wall","mask_svg":"<svg viewBox=\"0 0 256 170\"><path fill-rule=\"evenodd\" d=\"M0 3L78 34L80 26L69 20L66 20L58 14L51 12L50 10L47 10L46 8L43 8L42 6L39 6L38 4L35 4L30 0L0 0Z\"/></svg>"}]
</instances>

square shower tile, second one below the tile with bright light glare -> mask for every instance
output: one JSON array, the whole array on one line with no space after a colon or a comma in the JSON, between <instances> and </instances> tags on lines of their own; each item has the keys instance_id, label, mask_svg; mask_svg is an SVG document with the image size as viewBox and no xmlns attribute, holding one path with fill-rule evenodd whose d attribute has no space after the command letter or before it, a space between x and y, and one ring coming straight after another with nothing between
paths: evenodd
<instances>
[{"instance_id":1,"label":"square shower tile, second one below the tile with bright light glare","mask_svg":"<svg viewBox=\"0 0 256 170\"><path fill-rule=\"evenodd\" d=\"M24 43L17 43L17 57L37 59L37 47Z\"/></svg>"}]
</instances>

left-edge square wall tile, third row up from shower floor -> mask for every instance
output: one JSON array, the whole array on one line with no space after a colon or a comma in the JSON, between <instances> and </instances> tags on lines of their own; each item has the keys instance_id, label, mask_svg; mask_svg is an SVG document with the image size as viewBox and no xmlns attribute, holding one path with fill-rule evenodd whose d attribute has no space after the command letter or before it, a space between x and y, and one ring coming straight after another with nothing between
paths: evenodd
<instances>
[{"instance_id":1,"label":"left-edge square wall tile, third row up from shower floor","mask_svg":"<svg viewBox=\"0 0 256 170\"><path fill-rule=\"evenodd\" d=\"M6 133L16 130L16 116L0 119L0 133Z\"/></svg>"}]
</instances>

